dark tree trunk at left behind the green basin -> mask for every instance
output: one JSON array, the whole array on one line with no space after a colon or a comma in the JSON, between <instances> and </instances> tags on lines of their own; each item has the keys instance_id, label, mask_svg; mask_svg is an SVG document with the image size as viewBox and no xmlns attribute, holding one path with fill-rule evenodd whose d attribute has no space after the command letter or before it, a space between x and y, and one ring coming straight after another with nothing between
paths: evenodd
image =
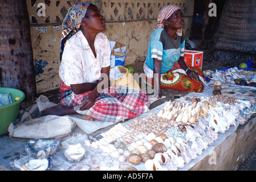
<instances>
[{"instance_id":1,"label":"dark tree trunk at left behind the green basin","mask_svg":"<svg viewBox=\"0 0 256 182\"><path fill-rule=\"evenodd\" d=\"M34 61L26 0L0 1L0 86L22 90L25 108L36 94Z\"/></svg>"}]
</instances>

